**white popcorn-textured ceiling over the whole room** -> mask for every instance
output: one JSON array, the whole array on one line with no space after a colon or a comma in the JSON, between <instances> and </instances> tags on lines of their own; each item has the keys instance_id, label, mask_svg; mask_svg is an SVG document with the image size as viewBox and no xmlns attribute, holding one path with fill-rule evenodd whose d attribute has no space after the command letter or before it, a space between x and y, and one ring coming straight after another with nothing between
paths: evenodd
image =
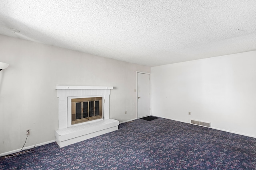
<instances>
[{"instance_id":1,"label":"white popcorn-textured ceiling over the whole room","mask_svg":"<svg viewBox=\"0 0 256 170\"><path fill-rule=\"evenodd\" d=\"M1 0L0 34L158 66L256 50L256 0Z\"/></svg>"}]
</instances>

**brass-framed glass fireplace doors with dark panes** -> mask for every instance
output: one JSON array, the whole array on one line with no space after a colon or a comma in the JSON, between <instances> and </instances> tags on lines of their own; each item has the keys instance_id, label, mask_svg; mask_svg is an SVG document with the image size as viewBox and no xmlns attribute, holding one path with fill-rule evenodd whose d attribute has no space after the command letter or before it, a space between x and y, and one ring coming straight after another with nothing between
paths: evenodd
<instances>
[{"instance_id":1,"label":"brass-framed glass fireplace doors with dark panes","mask_svg":"<svg viewBox=\"0 0 256 170\"><path fill-rule=\"evenodd\" d=\"M102 97L71 99L71 124L102 119Z\"/></svg>"}]
</instances>

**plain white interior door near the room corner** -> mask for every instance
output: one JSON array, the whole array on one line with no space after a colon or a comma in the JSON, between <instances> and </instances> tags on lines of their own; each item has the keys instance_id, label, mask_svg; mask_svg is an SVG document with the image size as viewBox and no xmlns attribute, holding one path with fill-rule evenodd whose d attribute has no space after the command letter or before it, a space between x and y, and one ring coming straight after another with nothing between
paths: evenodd
<instances>
[{"instance_id":1,"label":"plain white interior door near the room corner","mask_svg":"<svg viewBox=\"0 0 256 170\"><path fill-rule=\"evenodd\" d=\"M150 115L150 74L137 73L138 118Z\"/></svg>"}]
</instances>

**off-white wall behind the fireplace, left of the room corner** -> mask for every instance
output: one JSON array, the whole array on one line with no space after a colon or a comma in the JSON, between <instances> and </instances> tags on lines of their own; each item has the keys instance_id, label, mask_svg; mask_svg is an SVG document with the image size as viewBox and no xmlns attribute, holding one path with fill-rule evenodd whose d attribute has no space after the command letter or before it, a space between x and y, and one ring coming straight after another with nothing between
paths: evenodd
<instances>
[{"instance_id":1,"label":"off-white wall behind the fireplace, left of the room corner","mask_svg":"<svg viewBox=\"0 0 256 170\"><path fill-rule=\"evenodd\" d=\"M110 118L136 118L136 71L150 67L0 35L0 153L55 139L56 85L114 86ZM127 111L127 114L124 114Z\"/></svg>"}]
</instances>

